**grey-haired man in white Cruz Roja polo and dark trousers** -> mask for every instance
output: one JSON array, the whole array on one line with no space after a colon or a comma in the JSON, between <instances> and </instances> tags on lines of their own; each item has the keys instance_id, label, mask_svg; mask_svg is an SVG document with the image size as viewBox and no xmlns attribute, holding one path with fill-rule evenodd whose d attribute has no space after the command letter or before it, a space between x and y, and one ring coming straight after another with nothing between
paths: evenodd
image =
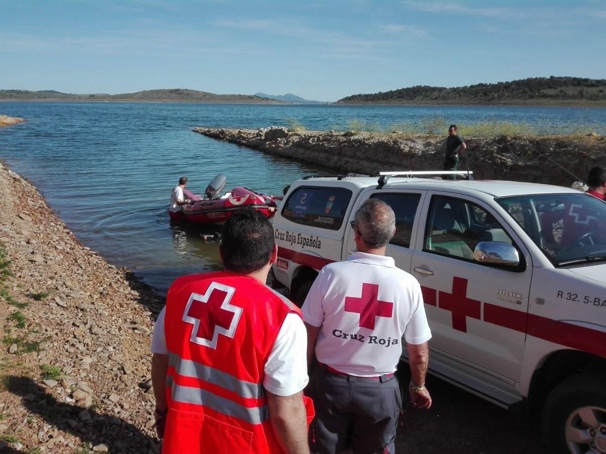
<instances>
[{"instance_id":1,"label":"grey-haired man in white Cruz Roja polo and dark trousers","mask_svg":"<svg viewBox=\"0 0 606 454\"><path fill-rule=\"evenodd\" d=\"M320 271L303 304L316 418L312 452L394 453L402 396L394 372L407 344L413 406L428 409L425 388L431 332L421 286L385 257L395 215L368 199L352 222L357 252Z\"/></svg>"}]
</instances>

